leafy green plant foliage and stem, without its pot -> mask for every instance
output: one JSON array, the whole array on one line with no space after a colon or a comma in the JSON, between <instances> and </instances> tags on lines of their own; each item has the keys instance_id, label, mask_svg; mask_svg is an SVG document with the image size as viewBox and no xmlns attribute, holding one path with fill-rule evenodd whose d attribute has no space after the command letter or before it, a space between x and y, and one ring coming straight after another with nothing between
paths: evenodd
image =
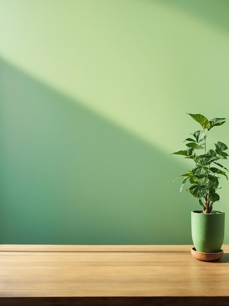
<instances>
[{"instance_id":1,"label":"leafy green plant foliage and stem, without its pot","mask_svg":"<svg viewBox=\"0 0 229 306\"><path fill-rule=\"evenodd\" d=\"M227 159L229 155L225 152L228 147L220 141L215 144L215 150L210 149L206 152L206 137L208 131L213 127L224 124L226 118L214 118L208 121L207 118L201 114L188 115L200 123L203 130L195 131L191 134L193 136L192 138L186 138L184 140L187 141L186 150L171 154L183 155L185 156L184 158L193 159L195 162L196 165L192 170L178 176L184 177L180 192L182 192L185 182L189 180L191 185L186 191L189 191L193 197L199 198L199 203L203 208L204 214L210 214L214 213L214 211L212 211L213 203L220 199L219 195L216 193L216 190L220 189L218 187L220 175L224 175L228 179L228 175L222 170L228 171L228 169L217 161L220 159ZM201 149L204 150L204 154L197 155L196 150ZM212 163L220 168L212 167Z\"/></svg>"}]
</instances>

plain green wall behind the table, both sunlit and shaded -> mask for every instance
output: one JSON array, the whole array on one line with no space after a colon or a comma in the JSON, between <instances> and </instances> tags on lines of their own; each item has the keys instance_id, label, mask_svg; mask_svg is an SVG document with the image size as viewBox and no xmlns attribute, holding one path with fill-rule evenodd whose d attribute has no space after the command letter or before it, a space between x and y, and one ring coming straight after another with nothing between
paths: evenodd
<instances>
[{"instance_id":1,"label":"plain green wall behind the table, both sunlit and shaded","mask_svg":"<svg viewBox=\"0 0 229 306\"><path fill-rule=\"evenodd\" d=\"M227 0L0 0L0 243L189 244L169 153L229 118ZM229 144L229 122L209 141ZM221 201L229 243L229 184Z\"/></svg>"}]
</instances>

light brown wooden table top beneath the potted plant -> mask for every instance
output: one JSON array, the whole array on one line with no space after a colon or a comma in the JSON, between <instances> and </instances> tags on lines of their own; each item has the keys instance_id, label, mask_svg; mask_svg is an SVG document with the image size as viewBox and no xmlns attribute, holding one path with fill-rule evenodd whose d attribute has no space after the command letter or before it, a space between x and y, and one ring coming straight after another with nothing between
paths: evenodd
<instances>
[{"instance_id":1,"label":"light brown wooden table top beneath the potted plant","mask_svg":"<svg viewBox=\"0 0 229 306\"><path fill-rule=\"evenodd\" d=\"M0 305L229 305L229 245L0 245Z\"/></svg>"}]
</instances>

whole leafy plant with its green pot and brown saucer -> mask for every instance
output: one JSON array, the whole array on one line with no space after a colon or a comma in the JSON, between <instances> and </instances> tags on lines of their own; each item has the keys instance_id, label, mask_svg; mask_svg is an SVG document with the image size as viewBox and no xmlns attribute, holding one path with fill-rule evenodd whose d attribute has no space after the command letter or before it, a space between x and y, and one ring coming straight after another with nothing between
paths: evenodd
<instances>
[{"instance_id":1,"label":"whole leafy plant with its green pot and brown saucer","mask_svg":"<svg viewBox=\"0 0 229 306\"><path fill-rule=\"evenodd\" d=\"M229 155L225 152L228 147L220 141L214 144L214 149L207 150L206 138L208 131L224 124L226 118L208 120L201 114L188 115L201 125L202 130L195 131L190 138L184 140L186 150L172 154L183 155L195 163L192 170L178 176L183 177L180 192L188 181L190 185L186 191L193 197L199 198L202 210L191 212L192 240L195 246L191 252L199 260L211 261L223 255L221 246L224 240L225 213L214 211L213 204L220 199L217 192L220 189L219 179L221 176L228 179L225 172L228 170L221 164L221 160L227 159Z\"/></svg>"}]
</instances>

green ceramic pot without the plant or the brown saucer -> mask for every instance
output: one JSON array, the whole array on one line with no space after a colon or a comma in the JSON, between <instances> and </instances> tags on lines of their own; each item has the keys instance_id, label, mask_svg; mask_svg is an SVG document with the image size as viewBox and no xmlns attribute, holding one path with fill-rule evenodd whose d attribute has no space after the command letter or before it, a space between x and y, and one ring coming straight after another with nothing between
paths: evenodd
<instances>
[{"instance_id":1,"label":"green ceramic pot without the plant or the brown saucer","mask_svg":"<svg viewBox=\"0 0 229 306\"><path fill-rule=\"evenodd\" d=\"M219 252L224 241L225 213L191 213L192 240L197 252Z\"/></svg>"}]
</instances>

